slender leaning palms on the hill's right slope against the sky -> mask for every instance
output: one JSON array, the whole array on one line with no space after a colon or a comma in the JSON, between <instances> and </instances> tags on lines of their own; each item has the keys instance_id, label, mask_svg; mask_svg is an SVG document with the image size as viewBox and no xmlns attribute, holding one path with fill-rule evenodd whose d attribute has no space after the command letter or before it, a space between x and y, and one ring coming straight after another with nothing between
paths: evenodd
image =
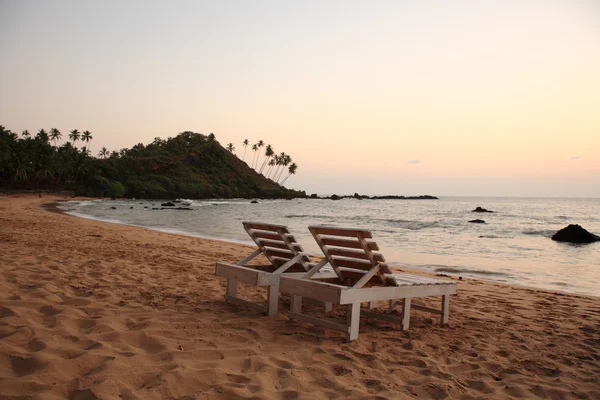
<instances>
[{"instance_id":1,"label":"slender leaning palms on the hill's right slope against the sky","mask_svg":"<svg viewBox=\"0 0 600 400\"><path fill-rule=\"evenodd\" d=\"M244 156L242 157L242 160L244 160L246 158L246 148L250 145L250 142L248 141L248 139L244 139L242 145L244 146ZM263 158L261 163L259 151L263 147L265 147L265 157ZM256 172L262 174L264 177L283 185L290 176L296 174L298 165L292 162L292 157L290 157L289 154L286 154L284 152L275 154L273 146L271 146L270 144L267 144L265 146L265 142L262 140L259 140L258 142L253 144L251 146L251 149L252 151L254 151L254 154L252 156L252 162L250 164L250 167L254 168ZM227 150L233 153L233 151L235 150L233 143L229 143L227 145ZM281 180L286 171L286 168L287 175L283 178L283 180ZM281 182L279 182L280 180Z\"/></svg>"}]
</instances>

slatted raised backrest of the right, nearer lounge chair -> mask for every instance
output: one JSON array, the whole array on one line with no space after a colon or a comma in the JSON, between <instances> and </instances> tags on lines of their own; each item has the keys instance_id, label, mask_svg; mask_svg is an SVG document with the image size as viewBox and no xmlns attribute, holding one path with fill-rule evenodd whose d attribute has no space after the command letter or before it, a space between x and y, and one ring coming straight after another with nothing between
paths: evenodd
<instances>
[{"instance_id":1,"label":"slatted raised backrest of the right, nearer lounge chair","mask_svg":"<svg viewBox=\"0 0 600 400\"><path fill-rule=\"evenodd\" d=\"M368 229L309 226L308 230L345 285L362 287L371 278L390 284L385 274L391 271Z\"/></svg>"}]
</instances>

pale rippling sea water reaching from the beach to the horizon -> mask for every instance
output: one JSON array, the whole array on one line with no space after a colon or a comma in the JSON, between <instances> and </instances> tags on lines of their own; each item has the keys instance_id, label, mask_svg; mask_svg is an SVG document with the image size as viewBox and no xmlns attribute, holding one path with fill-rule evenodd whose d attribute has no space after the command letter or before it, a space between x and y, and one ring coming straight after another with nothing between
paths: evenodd
<instances>
[{"instance_id":1,"label":"pale rippling sea water reaching from the beach to the horizon","mask_svg":"<svg viewBox=\"0 0 600 400\"><path fill-rule=\"evenodd\" d=\"M84 218L249 245L242 221L283 224L315 255L309 225L366 228L393 267L600 296L600 242L550 239L568 224L600 235L600 199L182 200L177 206L191 211L152 210L160 200L68 201L59 207ZM477 206L495 212L471 212ZM468 222L476 218L486 223Z\"/></svg>"}]
</instances>

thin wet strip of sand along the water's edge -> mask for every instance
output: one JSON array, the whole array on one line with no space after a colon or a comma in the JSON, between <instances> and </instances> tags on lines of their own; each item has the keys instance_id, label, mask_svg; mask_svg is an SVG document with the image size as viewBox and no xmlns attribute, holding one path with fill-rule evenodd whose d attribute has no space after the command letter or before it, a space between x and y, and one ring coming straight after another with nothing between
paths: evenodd
<instances>
[{"instance_id":1,"label":"thin wet strip of sand along the water's edge","mask_svg":"<svg viewBox=\"0 0 600 400\"><path fill-rule=\"evenodd\" d=\"M108 223L108 224L113 224L113 225L122 225L122 226L128 226L128 227L132 227L132 228L139 228L139 229L146 229L146 230L151 230L151 231L155 231L155 232L162 232L162 233L166 233L166 234L171 234L171 235L179 235L179 236L184 236L184 237L193 237L193 238L198 238L198 239L206 239L206 240L212 240L212 241L218 241L218 242L223 242L223 243L231 243L231 244L237 244L237 245L241 245L241 246L246 246L249 248L254 248L254 243L252 243L251 241L241 241L241 240L235 240L235 239L227 239L227 238L219 238L219 237L212 237L212 236L208 236L208 235L202 235L202 234L194 234L194 233L189 233L189 232L183 232L183 231L170 231L167 229L159 229L159 228L154 228L154 227L149 227L149 226L142 226L142 225L135 225L135 224L129 224L129 223L125 223L125 222L121 222L121 221L111 221L111 220L103 220L103 219L99 219L99 218L95 218L95 217L87 217L87 216L82 216L79 214L72 214L69 213L69 211L67 210L62 210L60 209L59 203L62 201L77 201L77 200L103 200L101 198L88 198L88 197L77 197L77 198L73 198L70 200L57 200L57 201L52 201L49 203L43 203L40 204L40 207L45 209L46 211L50 211L50 212L54 212L54 213L59 213L59 214L64 214L64 215L68 215L70 217L74 217L74 218L80 218L80 219L86 219L86 220L90 220L90 221L96 221L96 222L100 222L100 223ZM321 254L319 254L319 252L314 252L310 253L309 255L311 257L317 257L317 258L322 258ZM529 289L529 290L535 290L535 291L540 291L543 293L547 293L547 294L558 294L558 295L563 295L563 296L579 296L579 297L589 297L592 299L598 299L600 300L600 295L598 296L594 296L592 294L587 294L587 293L577 293L577 292L568 292L568 291L564 291L564 290L550 290L550 289L543 289L543 288L537 288L534 286L527 286L527 285L519 285L517 283L504 283L504 282L499 282L499 281L494 281L494 280L489 280L489 279L485 279L485 278L473 278L473 277L462 277L460 274L452 274L452 272L447 272L447 271L442 271L442 272L430 272L428 270L425 269L417 269L417 268L411 268L410 266L407 267L398 267L398 266L394 266L391 265L391 267L393 269L398 270L399 272L409 272L411 274L417 274L417 275L423 275L423 276L429 276L429 277L442 277L442 278L449 278L452 280L470 280L470 281L481 281L481 282L486 282L486 283L490 283L490 284L498 284L498 285L505 285L508 287L517 287L517 288L522 288L522 289Z\"/></svg>"}]
</instances>

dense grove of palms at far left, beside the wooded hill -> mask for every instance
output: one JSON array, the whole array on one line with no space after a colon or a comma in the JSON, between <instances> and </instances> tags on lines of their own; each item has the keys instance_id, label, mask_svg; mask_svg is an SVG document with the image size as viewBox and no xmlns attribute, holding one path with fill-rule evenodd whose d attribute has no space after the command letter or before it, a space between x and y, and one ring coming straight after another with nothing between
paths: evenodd
<instances>
[{"instance_id":1,"label":"dense grove of palms at far left, beside the wooded hill","mask_svg":"<svg viewBox=\"0 0 600 400\"><path fill-rule=\"evenodd\" d=\"M74 133L75 132L75 133ZM40 129L32 137L28 130L16 133L0 126L0 183L25 187L70 187L91 170L89 142L92 133L74 129L70 141L58 146L62 133L57 128ZM75 142L86 143L81 150Z\"/></svg>"}]
</instances>

